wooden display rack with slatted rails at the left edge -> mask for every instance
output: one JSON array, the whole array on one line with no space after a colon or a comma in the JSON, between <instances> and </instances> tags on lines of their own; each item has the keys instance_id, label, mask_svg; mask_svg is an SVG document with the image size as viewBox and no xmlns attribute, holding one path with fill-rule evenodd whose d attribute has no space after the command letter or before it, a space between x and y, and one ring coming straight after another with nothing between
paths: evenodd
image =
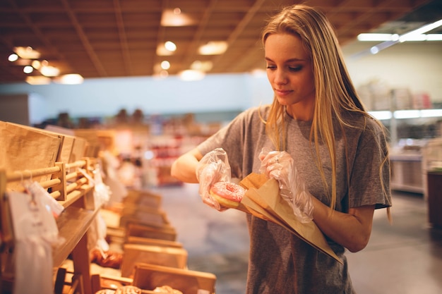
<instances>
[{"instance_id":1,"label":"wooden display rack with slatted rails at the left edge","mask_svg":"<svg viewBox=\"0 0 442 294\"><path fill-rule=\"evenodd\" d=\"M53 248L54 293L64 293L66 287L69 293L92 294L90 277L90 257L88 251L88 228L100 207L95 207L93 187L88 177L78 169L92 173L92 159L83 159L73 163L56 163L55 166L26 171L6 173L0 170L0 211L1 211L1 277L0 293L12 293L14 282L12 253L15 240L11 214L9 211L6 192L8 184L32 180L32 177L49 176L50 180L41 182L43 188L49 189L50 195L64 207L56 219L59 237L64 242ZM59 269L68 257L73 259L73 281L66 286L66 273Z\"/></svg>"}]
</instances>

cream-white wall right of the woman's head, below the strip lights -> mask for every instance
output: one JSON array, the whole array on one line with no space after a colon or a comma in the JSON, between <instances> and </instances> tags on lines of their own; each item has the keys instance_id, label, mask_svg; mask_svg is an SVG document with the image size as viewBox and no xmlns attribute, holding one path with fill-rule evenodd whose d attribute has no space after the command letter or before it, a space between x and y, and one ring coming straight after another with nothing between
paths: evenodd
<instances>
[{"instance_id":1,"label":"cream-white wall right of the woman's head, below the strip lights","mask_svg":"<svg viewBox=\"0 0 442 294\"><path fill-rule=\"evenodd\" d=\"M392 89L427 92L433 102L442 102L442 42L405 42L375 55L351 57L376 44L354 42L342 48L354 85L379 80Z\"/></svg>"}]
</instances>

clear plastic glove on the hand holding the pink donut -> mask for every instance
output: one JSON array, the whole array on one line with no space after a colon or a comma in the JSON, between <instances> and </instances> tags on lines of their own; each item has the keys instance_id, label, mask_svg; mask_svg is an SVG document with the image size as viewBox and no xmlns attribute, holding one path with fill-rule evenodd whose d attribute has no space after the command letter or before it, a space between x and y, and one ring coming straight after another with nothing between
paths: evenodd
<instances>
[{"instance_id":1,"label":"clear plastic glove on the hand holding the pink donut","mask_svg":"<svg viewBox=\"0 0 442 294\"><path fill-rule=\"evenodd\" d=\"M219 211L227 209L210 196L210 188L217 182L229 182L231 178L229 159L222 148L213 149L198 162L196 166L196 178L200 183L198 190L201 199L208 206Z\"/></svg>"}]
</instances>

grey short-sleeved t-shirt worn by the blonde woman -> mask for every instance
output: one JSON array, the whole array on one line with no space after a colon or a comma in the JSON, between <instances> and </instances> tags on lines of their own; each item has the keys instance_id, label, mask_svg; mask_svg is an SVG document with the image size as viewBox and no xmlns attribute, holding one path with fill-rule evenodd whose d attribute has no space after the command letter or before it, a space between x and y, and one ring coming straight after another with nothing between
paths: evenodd
<instances>
[{"instance_id":1,"label":"grey short-sleeved t-shirt worn by the blonde woman","mask_svg":"<svg viewBox=\"0 0 442 294\"><path fill-rule=\"evenodd\" d=\"M267 111L267 106L244 111L201 143L198 150L206 154L217 147L225 149L232 178L242 179L251 172L258 173L261 166L258 154L263 147L275 149L265 135L265 124L261 120L266 118ZM338 167L335 209L346 212L349 206L371 204L376 208L389 207L390 195L384 196L379 178L379 166L387 149L386 138L370 118L349 114L347 119L359 127L345 128L345 136L340 128L335 128ZM325 145L321 145L319 152L328 192L316 165L314 145L309 142L311 122L296 121L286 115L285 123L286 151L293 157L299 175L312 195L330 204L327 195L331 195L331 169ZM347 166L350 176L347 176ZM388 165L383 176L384 188L389 192ZM328 239L330 247L343 261L340 264L275 223L251 215L247 215L247 221L250 233L247 294L354 293L344 247Z\"/></svg>"}]
</instances>

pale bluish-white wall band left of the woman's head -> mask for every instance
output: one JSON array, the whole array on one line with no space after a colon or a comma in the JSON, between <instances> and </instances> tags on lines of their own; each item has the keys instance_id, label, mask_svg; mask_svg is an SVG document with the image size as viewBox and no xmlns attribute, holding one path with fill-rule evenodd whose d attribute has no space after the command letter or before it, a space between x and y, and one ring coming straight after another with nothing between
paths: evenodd
<instances>
[{"instance_id":1,"label":"pale bluish-white wall band left of the woman's head","mask_svg":"<svg viewBox=\"0 0 442 294\"><path fill-rule=\"evenodd\" d=\"M129 113L174 114L246 109L251 104L248 75L208 75L185 82L176 77L86 79L81 85L0 85L0 94L34 93L44 97L47 116L112 116Z\"/></svg>"}]
</instances>

